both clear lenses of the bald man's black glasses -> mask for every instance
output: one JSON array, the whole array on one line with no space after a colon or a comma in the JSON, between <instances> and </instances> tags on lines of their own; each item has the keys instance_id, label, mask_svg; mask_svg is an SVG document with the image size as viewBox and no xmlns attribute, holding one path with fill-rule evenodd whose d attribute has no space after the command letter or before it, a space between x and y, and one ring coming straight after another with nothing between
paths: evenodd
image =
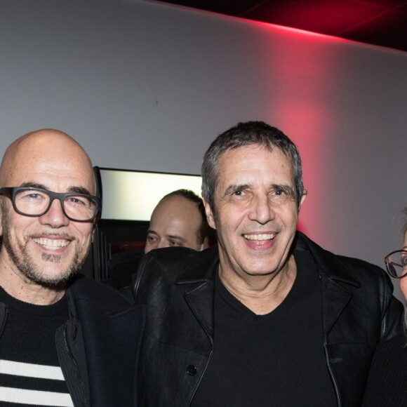
<instances>
[{"instance_id":1,"label":"both clear lenses of the bald man's black glasses","mask_svg":"<svg viewBox=\"0 0 407 407\"><path fill-rule=\"evenodd\" d=\"M26 215L42 215L48 211L51 196L39 189L22 189L15 194L15 207ZM88 220L97 210L96 202L89 196L68 194L62 199L63 208L69 218Z\"/></svg>"}]
</instances>

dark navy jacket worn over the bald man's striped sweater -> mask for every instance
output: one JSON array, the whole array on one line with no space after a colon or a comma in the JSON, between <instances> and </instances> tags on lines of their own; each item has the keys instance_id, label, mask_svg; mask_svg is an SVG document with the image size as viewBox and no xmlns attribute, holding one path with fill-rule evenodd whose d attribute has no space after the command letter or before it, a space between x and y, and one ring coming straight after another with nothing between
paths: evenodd
<instances>
[{"instance_id":1,"label":"dark navy jacket worn over the bald man's striped sweater","mask_svg":"<svg viewBox=\"0 0 407 407\"><path fill-rule=\"evenodd\" d=\"M112 288L75 276L67 288L69 320L55 343L75 407L136 407L145 309ZM0 303L1 332L7 305Z\"/></svg>"}]
</instances>

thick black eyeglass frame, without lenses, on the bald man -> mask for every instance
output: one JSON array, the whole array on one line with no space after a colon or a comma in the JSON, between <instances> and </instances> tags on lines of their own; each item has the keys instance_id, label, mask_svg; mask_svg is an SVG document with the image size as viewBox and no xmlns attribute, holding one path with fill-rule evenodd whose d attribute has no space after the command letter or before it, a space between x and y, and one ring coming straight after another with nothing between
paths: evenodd
<instances>
[{"instance_id":1,"label":"thick black eyeglass frame, without lenses, on the bald man","mask_svg":"<svg viewBox=\"0 0 407 407\"><path fill-rule=\"evenodd\" d=\"M44 192L45 194L47 194L50 197L48 208L46 208L46 210L44 212L39 213L39 215L31 215L29 213L21 212L15 204L15 194L17 194L20 191L29 190L29 189L32 189L34 191ZM77 192L53 192L53 191L50 191L49 189L37 188L37 187L2 187L2 188L0 188L0 195L8 196L8 198L11 199L15 212L17 212L19 215L29 216L30 218L39 218L40 216L45 215L50 210L51 205L53 204L53 201L55 201L55 199L58 199L58 201L60 201L62 213L69 220L72 220L72 222L92 222L98 216L98 214L100 213L100 209L102 208L102 199L100 199L99 196L94 196L91 194L81 194L81 193L77 193ZM67 213L65 212L65 198L67 196L84 196L85 198L90 198L93 201L95 201L96 211L93 214L93 216L89 219L83 220L83 219L75 219L75 218L72 218L71 216L67 215Z\"/></svg>"}]
</instances>

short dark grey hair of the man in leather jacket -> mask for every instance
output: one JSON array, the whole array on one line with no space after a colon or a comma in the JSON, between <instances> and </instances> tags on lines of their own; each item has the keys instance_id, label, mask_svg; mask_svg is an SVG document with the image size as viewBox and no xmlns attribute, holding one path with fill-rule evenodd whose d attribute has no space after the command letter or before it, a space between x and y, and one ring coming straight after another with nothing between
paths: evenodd
<instances>
[{"instance_id":1,"label":"short dark grey hair of the man in leather jacket","mask_svg":"<svg viewBox=\"0 0 407 407\"><path fill-rule=\"evenodd\" d=\"M259 145L272 151L274 147L286 154L292 164L293 181L295 183L295 198L298 207L304 185L302 182L301 158L295 144L278 128L269 126L263 121L247 121L239 123L218 135L209 146L202 163L202 196L215 213L214 195L218 185L218 165L220 156L229 149L243 146Z\"/></svg>"}]
</instances>

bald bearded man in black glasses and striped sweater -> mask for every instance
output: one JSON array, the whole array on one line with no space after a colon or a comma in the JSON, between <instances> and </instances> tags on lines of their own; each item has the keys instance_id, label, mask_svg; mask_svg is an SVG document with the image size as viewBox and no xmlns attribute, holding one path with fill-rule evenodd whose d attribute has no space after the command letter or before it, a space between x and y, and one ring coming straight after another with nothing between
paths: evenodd
<instances>
[{"instance_id":1,"label":"bald bearded man in black glasses and striped sweater","mask_svg":"<svg viewBox=\"0 0 407 407\"><path fill-rule=\"evenodd\" d=\"M100 213L93 167L61 131L0 167L1 406L134 407L144 309L76 274Z\"/></svg>"}]
</instances>

